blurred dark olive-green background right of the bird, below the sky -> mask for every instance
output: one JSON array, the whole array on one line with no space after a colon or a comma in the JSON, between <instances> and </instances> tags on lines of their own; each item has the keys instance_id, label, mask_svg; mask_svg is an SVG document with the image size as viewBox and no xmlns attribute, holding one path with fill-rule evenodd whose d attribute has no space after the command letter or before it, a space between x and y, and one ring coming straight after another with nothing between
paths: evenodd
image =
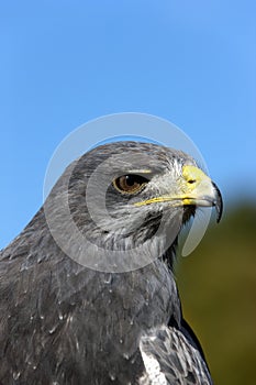
<instances>
[{"instance_id":1,"label":"blurred dark olive-green background right of the bird, below the sky","mask_svg":"<svg viewBox=\"0 0 256 385\"><path fill-rule=\"evenodd\" d=\"M197 250L180 257L185 318L202 343L215 384L255 384L256 205L227 206Z\"/></svg>"}]
</instances>

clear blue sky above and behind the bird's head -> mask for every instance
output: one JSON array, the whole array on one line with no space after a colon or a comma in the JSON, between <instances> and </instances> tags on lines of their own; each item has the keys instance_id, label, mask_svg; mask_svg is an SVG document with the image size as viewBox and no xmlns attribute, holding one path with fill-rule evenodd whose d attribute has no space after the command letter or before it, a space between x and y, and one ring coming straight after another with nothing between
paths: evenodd
<instances>
[{"instance_id":1,"label":"clear blue sky above and behind the bird's head","mask_svg":"<svg viewBox=\"0 0 256 385\"><path fill-rule=\"evenodd\" d=\"M42 205L58 143L112 112L172 121L225 201L255 199L255 19L254 0L2 1L0 248Z\"/></svg>"}]
</instances>

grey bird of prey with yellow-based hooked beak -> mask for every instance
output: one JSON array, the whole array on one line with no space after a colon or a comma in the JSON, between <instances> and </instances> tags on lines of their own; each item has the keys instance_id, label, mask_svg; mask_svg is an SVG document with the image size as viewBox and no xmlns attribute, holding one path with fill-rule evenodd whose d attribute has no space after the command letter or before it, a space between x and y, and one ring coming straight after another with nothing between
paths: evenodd
<instances>
[{"instance_id":1,"label":"grey bird of prey with yellow-based hooked beak","mask_svg":"<svg viewBox=\"0 0 256 385\"><path fill-rule=\"evenodd\" d=\"M212 384L175 279L179 233L216 185L188 154L99 145L0 252L0 384Z\"/></svg>"}]
</instances>

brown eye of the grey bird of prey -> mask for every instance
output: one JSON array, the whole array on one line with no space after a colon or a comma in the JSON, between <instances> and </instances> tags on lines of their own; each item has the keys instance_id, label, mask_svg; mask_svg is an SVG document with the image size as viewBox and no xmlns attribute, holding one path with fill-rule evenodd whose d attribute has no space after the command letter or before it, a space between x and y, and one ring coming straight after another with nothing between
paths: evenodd
<instances>
[{"instance_id":1,"label":"brown eye of the grey bird of prey","mask_svg":"<svg viewBox=\"0 0 256 385\"><path fill-rule=\"evenodd\" d=\"M124 194L134 194L142 189L148 180L141 175L129 174L122 175L113 180L116 190Z\"/></svg>"}]
</instances>

